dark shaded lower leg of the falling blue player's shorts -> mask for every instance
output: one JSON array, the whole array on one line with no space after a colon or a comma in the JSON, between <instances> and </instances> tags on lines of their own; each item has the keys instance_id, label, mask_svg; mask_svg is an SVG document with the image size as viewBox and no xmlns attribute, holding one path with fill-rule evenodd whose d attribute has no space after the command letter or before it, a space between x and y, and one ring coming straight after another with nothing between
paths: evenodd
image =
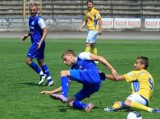
<instances>
[{"instance_id":1,"label":"dark shaded lower leg of the falling blue player's shorts","mask_svg":"<svg viewBox=\"0 0 160 119\"><path fill-rule=\"evenodd\" d=\"M74 96L76 100L79 100L79 101L85 98L89 98L90 95L92 95L95 92L98 92L100 86L101 86L101 83L83 85L83 88L78 93L76 93Z\"/></svg>"}]
</instances>

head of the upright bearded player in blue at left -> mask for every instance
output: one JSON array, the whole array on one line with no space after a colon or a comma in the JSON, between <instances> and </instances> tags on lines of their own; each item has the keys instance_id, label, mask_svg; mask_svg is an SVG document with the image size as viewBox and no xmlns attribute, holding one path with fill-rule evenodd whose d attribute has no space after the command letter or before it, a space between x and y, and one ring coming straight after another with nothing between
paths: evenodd
<instances>
[{"instance_id":1,"label":"head of the upright bearded player in blue at left","mask_svg":"<svg viewBox=\"0 0 160 119\"><path fill-rule=\"evenodd\" d=\"M29 11L32 17L35 17L38 11L38 5L37 3L31 3L29 5Z\"/></svg>"}]
</instances>

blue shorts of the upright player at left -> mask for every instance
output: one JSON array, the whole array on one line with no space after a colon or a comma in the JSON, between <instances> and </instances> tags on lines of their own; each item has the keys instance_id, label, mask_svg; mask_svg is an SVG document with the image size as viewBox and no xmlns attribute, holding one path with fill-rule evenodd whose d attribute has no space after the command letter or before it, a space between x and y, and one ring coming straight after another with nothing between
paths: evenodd
<instances>
[{"instance_id":1,"label":"blue shorts of the upright player at left","mask_svg":"<svg viewBox=\"0 0 160 119\"><path fill-rule=\"evenodd\" d=\"M45 49L45 42L42 43L40 49L37 49L38 44L32 43L30 49L28 50L27 57L35 58L35 59L44 59L44 49Z\"/></svg>"}]
</instances>

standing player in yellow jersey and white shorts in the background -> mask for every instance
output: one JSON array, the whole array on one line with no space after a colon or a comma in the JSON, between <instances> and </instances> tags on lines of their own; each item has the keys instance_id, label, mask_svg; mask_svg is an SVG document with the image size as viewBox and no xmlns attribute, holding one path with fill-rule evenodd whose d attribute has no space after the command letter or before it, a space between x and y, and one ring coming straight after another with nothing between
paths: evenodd
<instances>
[{"instance_id":1,"label":"standing player in yellow jersey and white shorts in the background","mask_svg":"<svg viewBox=\"0 0 160 119\"><path fill-rule=\"evenodd\" d=\"M85 12L85 21L78 28L78 31L81 31L82 27L87 25L88 31L85 52L91 52L97 55L96 40L97 35L102 34L102 20L99 11L93 7L92 0L87 1L87 7L88 10Z\"/></svg>"}]
</instances>

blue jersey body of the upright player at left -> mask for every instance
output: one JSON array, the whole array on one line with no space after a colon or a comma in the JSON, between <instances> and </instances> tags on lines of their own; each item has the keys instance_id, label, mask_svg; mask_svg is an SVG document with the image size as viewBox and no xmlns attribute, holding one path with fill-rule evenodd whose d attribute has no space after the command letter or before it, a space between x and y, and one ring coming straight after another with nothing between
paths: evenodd
<instances>
[{"instance_id":1,"label":"blue jersey body of the upright player at left","mask_svg":"<svg viewBox=\"0 0 160 119\"><path fill-rule=\"evenodd\" d=\"M38 25L38 20L40 16L35 16L34 18L29 18L29 28L30 28L30 37L32 43L39 42L42 38L43 32L40 26Z\"/></svg>"}]
</instances>

